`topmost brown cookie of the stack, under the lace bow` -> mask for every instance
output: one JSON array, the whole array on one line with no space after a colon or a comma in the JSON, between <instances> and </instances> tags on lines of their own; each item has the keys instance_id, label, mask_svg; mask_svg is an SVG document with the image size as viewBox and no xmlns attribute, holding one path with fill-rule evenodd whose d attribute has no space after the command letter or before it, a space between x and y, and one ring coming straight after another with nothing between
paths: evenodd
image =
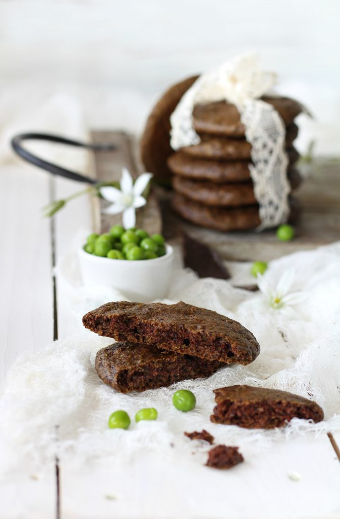
<instances>
[{"instance_id":1,"label":"topmost brown cookie of the stack, under the lace bow","mask_svg":"<svg viewBox=\"0 0 340 519\"><path fill-rule=\"evenodd\" d=\"M267 96L262 99L277 110L286 126L291 125L295 117L303 111L303 106L294 99ZM229 137L243 137L245 134L237 107L225 101L196 105L193 120L198 133Z\"/></svg>"}]
</instances>

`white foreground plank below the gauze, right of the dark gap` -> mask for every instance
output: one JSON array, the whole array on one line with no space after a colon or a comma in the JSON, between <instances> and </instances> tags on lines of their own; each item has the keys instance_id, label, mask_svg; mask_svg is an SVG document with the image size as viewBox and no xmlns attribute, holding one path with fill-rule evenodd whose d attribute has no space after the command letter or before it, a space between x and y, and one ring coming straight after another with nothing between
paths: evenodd
<instances>
[{"instance_id":1,"label":"white foreground plank below the gauze, right of the dark gap","mask_svg":"<svg viewBox=\"0 0 340 519\"><path fill-rule=\"evenodd\" d=\"M73 519L335 519L340 517L340 464L326 435L277 441L266 450L243 446L244 463L230 471L203 466L198 454L171 463L140 453L87 472L62 468L62 517ZM300 475L292 481L292 473Z\"/></svg>"}]
</instances>

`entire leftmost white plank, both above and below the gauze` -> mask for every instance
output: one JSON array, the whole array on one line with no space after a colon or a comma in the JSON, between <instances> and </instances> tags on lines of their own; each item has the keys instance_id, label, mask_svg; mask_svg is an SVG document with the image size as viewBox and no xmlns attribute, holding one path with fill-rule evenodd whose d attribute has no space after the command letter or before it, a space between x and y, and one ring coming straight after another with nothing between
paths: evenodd
<instances>
[{"instance_id":1,"label":"entire leftmost white plank, both above and below the gauze","mask_svg":"<svg viewBox=\"0 0 340 519\"><path fill-rule=\"evenodd\" d=\"M0 387L23 351L53 340L50 222L41 208L49 201L48 176L29 166L0 168ZM0 481L2 519L50 519L56 507L55 468L44 476L22 467L18 479Z\"/></svg>"}]
</instances>

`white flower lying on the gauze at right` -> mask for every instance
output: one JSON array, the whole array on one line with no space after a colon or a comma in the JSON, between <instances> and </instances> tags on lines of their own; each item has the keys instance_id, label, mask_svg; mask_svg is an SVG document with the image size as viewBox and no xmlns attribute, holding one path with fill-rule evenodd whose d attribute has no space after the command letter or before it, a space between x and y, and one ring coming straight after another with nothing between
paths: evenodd
<instances>
[{"instance_id":1,"label":"white flower lying on the gauze at right","mask_svg":"<svg viewBox=\"0 0 340 519\"><path fill-rule=\"evenodd\" d=\"M272 308L283 308L284 306L295 305L302 301L305 295L298 290L292 291L295 279L295 269L290 268L283 272L276 286L273 286L266 275L257 276L257 285L260 291L266 296L269 306Z\"/></svg>"}]
</instances>

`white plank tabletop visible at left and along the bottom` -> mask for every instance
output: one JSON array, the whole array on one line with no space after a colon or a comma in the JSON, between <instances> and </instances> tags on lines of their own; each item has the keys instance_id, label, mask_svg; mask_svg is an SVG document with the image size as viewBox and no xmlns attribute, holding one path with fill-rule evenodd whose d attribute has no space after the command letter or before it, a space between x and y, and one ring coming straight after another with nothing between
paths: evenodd
<instances>
[{"instance_id":1,"label":"white plank tabletop visible at left and along the bottom","mask_svg":"<svg viewBox=\"0 0 340 519\"><path fill-rule=\"evenodd\" d=\"M38 351L72 333L53 266L79 227L91 227L89 201L77 199L50 222L41 207L79 185L26 165L0 168L0 385L18 354ZM19 323L19 324L18 324ZM1 417L0 417L1 419ZM335 439L340 443L340 437ZM335 519L340 518L340 460L326 434L277 441L231 471L186 460L171 466L140 453L117 467L93 462L86 471L63 463L0 487L1 519ZM247 460L246 449L244 457ZM289 474L301 478L292 481ZM210 479L206 488L207 477Z\"/></svg>"}]
</instances>

